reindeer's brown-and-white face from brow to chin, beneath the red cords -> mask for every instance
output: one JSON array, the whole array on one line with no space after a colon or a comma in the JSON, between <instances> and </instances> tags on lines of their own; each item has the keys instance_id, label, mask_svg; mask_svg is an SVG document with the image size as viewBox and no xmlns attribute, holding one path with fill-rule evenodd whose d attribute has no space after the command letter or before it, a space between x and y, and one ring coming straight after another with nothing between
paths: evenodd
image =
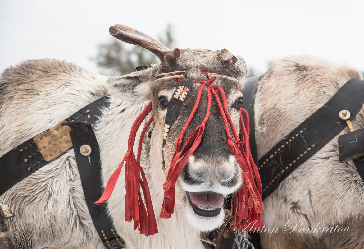
<instances>
[{"instance_id":1,"label":"reindeer's brown-and-white face from brow to chin, beneath the red cords","mask_svg":"<svg viewBox=\"0 0 364 249\"><path fill-rule=\"evenodd\" d=\"M213 58L216 60L216 52L211 51L211 54L214 54ZM219 65L221 64L219 63ZM208 77L206 74L201 73L202 70L198 68L185 69L184 72L177 72L172 76L167 75L162 80L157 79L151 85L155 121L154 130L158 131L153 132L152 139L158 140L158 142L155 141L153 144L160 145L162 145L163 138L166 140L163 147L165 163L161 165L161 168L165 167L163 170L166 175L170 170L171 161L175 154L176 140L181 135L190 117L201 87L201 83L194 83L192 89L187 90L183 86L183 81L179 82L178 79L186 77L206 81ZM223 68L218 72L223 70L226 69ZM215 72L211 71L211 73ZM181 75L183 76L181 77ZM218 77L211 84L219 85L223 89L226 95L227 109L239 133L239 112L242 104L241 84L237 83L237 80L234 80L232 77ZM176 90L177 96L175 94ZM219 90L216 90L216 93L220 98L218 101L223 105L222 94ZM182 147L191 133L198 125L202 124L205 118L208 106L207 95L207 87L205 87L201 94L198 109L183 138ZM179 175L176 187L177 198L185 206L187 219L191 225L201 230L211 230L221 225L224 220L224 198L234 193L241 184L240 167L227 143L224 121L219 111L217 100L211 92L210 96L210 116L206 122L201 142L189 157L187 165ZM182 107L174 124L166 127L165 121L169 102L172 98L176 97L179 101L183 101ZM161 132L163 135L161 135ZM229 132L233 136L231 127L229 127Z\"/></svg>"}]
</instances>

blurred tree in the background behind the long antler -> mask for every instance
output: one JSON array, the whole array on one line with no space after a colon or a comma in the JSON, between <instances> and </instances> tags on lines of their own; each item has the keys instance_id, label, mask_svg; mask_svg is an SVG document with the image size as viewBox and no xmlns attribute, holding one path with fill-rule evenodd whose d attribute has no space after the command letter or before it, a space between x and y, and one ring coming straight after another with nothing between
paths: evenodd
<instances>
[{"instance_id":1,"label":"blurred tree in the background behind the long antler","mask_svg":"<svg viewBox=\"0 0 364 249\"><path fill-rule=\"evenodd\" d=\"M172 27L167 24L163 37L158 40L169 48L173 47ZM109 43L99 44L98 52L93 58L99 67L105 69L107 74L123 75L131 73L137 66L145 66L158 63L158 58L145 48L138 46L128 46L112 38Z\"/></svg>"}]
</instances>

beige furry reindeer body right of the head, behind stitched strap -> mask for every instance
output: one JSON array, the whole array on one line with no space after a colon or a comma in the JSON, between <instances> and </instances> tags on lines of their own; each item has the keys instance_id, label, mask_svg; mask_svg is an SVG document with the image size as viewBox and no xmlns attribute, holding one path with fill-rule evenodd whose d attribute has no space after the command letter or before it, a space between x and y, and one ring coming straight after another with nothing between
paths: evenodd
<instances>
[{"instance_id":1,"label":"beige furry reindeer body right of the head, behind stitched strap","mask_svg":"<svg viewBox=\"0 0 364 249\"><path fill-rule=\"evenodd\" d=\"M273 63L258 82L255 120L258 157L323 106L358 71L314 57L286 57ZM355 93L353 93L355 97ZM364 108L353 120L364 128ZM363 248L364 184L352 161L339 162L337 138L299 166L264 201L263 248ZM292 232L291 219L303 224ZM349 227L347 233L305 233L301 227ZM284 230L287 230L284 232ZM301 230L302 231L302 230Z\"/></svg>"}]
</instances>

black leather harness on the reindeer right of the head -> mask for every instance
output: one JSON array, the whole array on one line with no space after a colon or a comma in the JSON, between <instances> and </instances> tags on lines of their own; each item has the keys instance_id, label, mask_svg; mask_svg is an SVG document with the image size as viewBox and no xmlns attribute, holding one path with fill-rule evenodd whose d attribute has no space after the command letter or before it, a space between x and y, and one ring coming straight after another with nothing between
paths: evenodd
<instances>
[{"instance_id":1,"label":"black leather harness on the reindeer right of the head","mask_svg":"<svg viewBox=\"0 0 364 249\"><path fill-rule=\"evenodd\" d=\"M243 90L245 108L254 122L254 96L257 82L261 75L248 78ZM355 96L353 96L355 93ZM248 98L248 100L247 100ZM310 156L314 155L320 148L327 144L333 137L342 131L346 125L341 120L339 113L343 109L349 110L351 120L363 105L364 81L350 79L323 107L313 113L308 119L298 125L284 139L262 156L259 160L259 174L263 186L263 199L269 196L290 173L304 163ZM327 107L330 108L327 108ZM329 132L327 132L329 131ZM364 134L364 129L357 133ZM348 148L348 138L356 135L348 133L339 137L339 148ZM348 135L348 136L347 136ZM364 136L364 135L363 135ZM254 139L253 139L254 138ZM344 139L345 138L345 139ZM341 139L341 140L340 140ZM350 142L353 140L350 140ZM357 140L358 141L358 140ZM350 143L349 142L349 143ZM250 128L250 148L253 159L257 162L256 141L254 126ZM255 148L255 149L254 149ZM346 156L351 152L340 152ZM354 159L353 163L364 181L364 160ZM250 233L250 241L256 249L260 249L260 238L258 233Z\"/></svg>"}]
</instances>

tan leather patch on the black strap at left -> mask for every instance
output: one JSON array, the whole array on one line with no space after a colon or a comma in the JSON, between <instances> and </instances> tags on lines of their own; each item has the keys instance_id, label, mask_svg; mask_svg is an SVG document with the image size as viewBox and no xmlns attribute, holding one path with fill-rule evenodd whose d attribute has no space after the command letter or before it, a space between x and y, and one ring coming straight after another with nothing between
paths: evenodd
<instances>
[{"instance_id":1,"label":"tan leather patch on the black strap at left","mask_svg":"<svg viewBox=\"0 0 364 249\"><path fill-rule=\"evenodd\" d=\"M33 138L46 162L52 161L73 147L70 131L72 128L69 126L58 124Z\"/></svg>"}]
</instances>

